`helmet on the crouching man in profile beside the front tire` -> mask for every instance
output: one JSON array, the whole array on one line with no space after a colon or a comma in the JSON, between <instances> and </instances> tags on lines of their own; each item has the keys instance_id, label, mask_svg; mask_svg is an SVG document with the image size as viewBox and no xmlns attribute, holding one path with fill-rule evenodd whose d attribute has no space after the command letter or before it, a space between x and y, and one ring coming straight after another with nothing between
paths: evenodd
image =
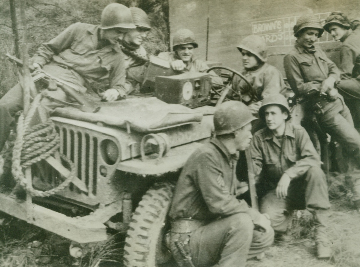
<instances>
[{"instance_id":1,"label":"helmet on the crouching man in profile beside the front tire","mask_svg":"<svg viewBox=\"0 0 360 267\"><path fill-rule=\"evenodd\" d=\"M229 134L242 128L256 118L246 104L240 101L227 101L216 108L214 113L215 134Z\"/></svg>"}]
</instances>

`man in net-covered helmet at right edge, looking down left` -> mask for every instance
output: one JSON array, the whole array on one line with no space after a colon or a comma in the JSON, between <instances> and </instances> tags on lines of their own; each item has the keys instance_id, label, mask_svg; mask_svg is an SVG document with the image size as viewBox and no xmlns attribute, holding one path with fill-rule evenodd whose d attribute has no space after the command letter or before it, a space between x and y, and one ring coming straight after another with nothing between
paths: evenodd
<instances>
[{"instance_id":1,"label":"man in net-covered helmet at right edge, looking down left","mask_svg":"<svg viewBox=\"0 0 360 267\"><path fill-rule=\"evenodd\" d=\"M360 55L360 27L357 26L359 21L350 20L341 12L333 12L326 19L324 29L335 41L342 43L338 66L341 81L337 88L351 111L355 127L360 128L360 79L357 79L357 76L352 77L352 69Z\"/></svg>"}]
</instances>

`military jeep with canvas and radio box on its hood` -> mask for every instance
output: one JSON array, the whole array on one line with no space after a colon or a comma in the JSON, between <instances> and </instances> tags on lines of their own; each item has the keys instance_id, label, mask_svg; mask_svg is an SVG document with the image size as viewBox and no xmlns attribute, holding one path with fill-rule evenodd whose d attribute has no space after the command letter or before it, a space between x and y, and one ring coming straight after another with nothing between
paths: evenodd
<instances>
[{"instance_id":1,"label":"military jeep with canvas and radio box on its hood","mask_svg":"<svg viewBox=\"0 0 360 267\"><path fill-rule=\"evenodd\" d=\"M44 75L33 79L38 89L48 85ZM215 107L206 105L208 74L159 81L159 98L167 97L163 87L168 84L177 94L173 101L182 104L138 94L115 102L98 99L96 113L56 108L51 120L59 152L72 161L76 177L51 196L21 200L2 192L0 211L73 241L74 257L81 257L82 245L107 240L111 229L127 235L126 266L167 262L163 236L172 190L190 154L211 137ZM42 165L31 167L33 188L47 191L63 182L58 170ZM63 169L69 172L68 166Z\"/></svg>"}]
</instances>

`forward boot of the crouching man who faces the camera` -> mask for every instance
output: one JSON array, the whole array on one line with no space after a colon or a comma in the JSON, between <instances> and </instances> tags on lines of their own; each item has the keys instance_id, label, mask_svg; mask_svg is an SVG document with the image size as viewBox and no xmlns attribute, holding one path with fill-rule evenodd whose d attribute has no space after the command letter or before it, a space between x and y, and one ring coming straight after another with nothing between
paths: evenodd
<instances>
[{"instance_id":1,"label":"forward boot of the crouching man who faces the camera","mask_svg":"<svg viewBox=\"0 0 360 267\"><path fill-rule=\"evenodd\" d=\"M326 222L328 220L327 210L311 211L315 223L315 244L318 252L318 259L330 259L332 256L331 242L326 232Z\"/></svg>"}]
</instances>

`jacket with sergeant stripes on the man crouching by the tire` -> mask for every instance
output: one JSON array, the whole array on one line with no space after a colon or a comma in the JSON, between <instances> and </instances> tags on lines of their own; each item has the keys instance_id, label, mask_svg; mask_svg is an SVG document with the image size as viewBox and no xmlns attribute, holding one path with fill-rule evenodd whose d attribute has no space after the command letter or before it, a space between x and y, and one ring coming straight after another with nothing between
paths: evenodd
<instances>
[{"instance_id":1,"label":"jacket with sergeant stripes on the man crouching by the tire","mask_svg":"<svg viewBox=\"0 0 360 267\"><path fill-rule=\"evenodd\" d=\"M216 138L198 148L177 181L170 217L212 221L245 212L257 220L258 212L236 199L236 163L237 156L230 155Z\"/></svg>"}]
</instances>

